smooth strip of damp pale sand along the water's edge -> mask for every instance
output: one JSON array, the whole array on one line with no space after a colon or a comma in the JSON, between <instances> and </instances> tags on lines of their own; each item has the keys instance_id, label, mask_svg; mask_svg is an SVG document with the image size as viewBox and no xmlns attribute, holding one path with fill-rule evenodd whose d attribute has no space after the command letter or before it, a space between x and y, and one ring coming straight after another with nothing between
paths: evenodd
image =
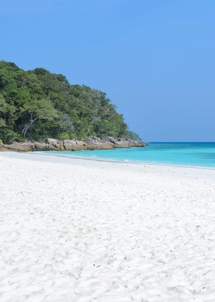
<instances>
[{"instance_id":1,"label":"smooth strip of damp pale sand along the water's edge","mask_svg":"<svg viewBox=\"0 0 215 302\"><path fill-rule=\"evenodd\" d=\"M157 173L161 177L163 176L175 176L180 175L182 177L205 177L215 181L215 169L207 169L203 167L188 167L188 166L174 166L174 165L156 165L156 164L142 164L142 163L131 163L121 161L103 161L96 160L94 158L81 158L81 157L67 157L63 155L55 154L44 154L40 152L7 152L0 153L0 159L11 158L20 159L25 161L33 162L44 162L52 164L63 164L70 166L84 166L96 169L117 169L123 171L132 171L136 173Z\"/></svg>"}]
</instances>

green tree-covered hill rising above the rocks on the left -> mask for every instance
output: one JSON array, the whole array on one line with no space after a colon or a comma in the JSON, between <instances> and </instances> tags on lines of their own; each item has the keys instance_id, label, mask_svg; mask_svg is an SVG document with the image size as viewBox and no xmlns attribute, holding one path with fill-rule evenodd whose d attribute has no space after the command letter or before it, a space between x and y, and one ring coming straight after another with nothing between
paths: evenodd
<instances>
[{"instance_id":1,"label":"green tree-covered hill rising above the rocks on the left","mask_svg":"<svg viewBox=\"0 0 215 302\"><path fill-rule=\"evenodd\" d=\"M116 108L104 92L70 85L63 74L0 61L0 145L47 138L141 142Z\"/></svg>"}]
</instances>

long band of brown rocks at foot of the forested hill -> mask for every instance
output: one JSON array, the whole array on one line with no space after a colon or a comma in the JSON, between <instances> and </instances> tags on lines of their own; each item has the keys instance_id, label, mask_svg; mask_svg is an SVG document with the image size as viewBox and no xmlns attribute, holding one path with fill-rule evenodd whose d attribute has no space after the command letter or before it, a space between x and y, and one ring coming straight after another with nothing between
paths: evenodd
<instances>
[{"instance_id":1,"label":"long band of brown rocks at foot of the forested hill","mask_svg":"<svg viewBox=\"0 0 215 302\"><path fill-rule=\"evenodd\" d=\"M129 138L116 139L107 136L105 139L90 136L87 140L58 140L47 138L42 142L13 142L11 144L3 144L0 151L78 151L78 150L95 150L95 149L114 149L114 148L130 148L145 147L143 141L131 140Z\"/></svg>"}]
</instances>

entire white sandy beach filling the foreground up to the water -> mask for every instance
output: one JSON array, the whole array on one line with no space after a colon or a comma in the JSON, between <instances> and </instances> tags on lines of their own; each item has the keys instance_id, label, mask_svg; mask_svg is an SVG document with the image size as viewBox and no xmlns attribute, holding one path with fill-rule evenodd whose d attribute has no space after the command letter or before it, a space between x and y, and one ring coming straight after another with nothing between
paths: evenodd
<instances>
[{"instance_id":1,"label":"entire white sandy beach filling the foreground up to the water","mask_svg":"<svg viewBox=\"0 0 215 302\"><path fill-rule=\"evenodd\" d=\"M215 171L0 154L0 301L215 301Z\"/></svg>"}]
</instances>

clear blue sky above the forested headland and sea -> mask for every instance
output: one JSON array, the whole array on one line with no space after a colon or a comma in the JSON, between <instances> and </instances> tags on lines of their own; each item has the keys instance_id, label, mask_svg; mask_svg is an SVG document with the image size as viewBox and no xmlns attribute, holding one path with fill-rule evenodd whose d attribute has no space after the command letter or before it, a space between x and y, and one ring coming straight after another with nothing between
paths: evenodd
<instances>
[{"instance_id":1,"label":"clear blue sky above the forested headland and sea","mask_svg":"<svg viewBox=\"0 0 215 302\"><path fill-rule=\"evenodd\" d=\"M148 141L215 141L214 0L5 0L0 59L106 92Z\"/></svg>"}]
</instances>

